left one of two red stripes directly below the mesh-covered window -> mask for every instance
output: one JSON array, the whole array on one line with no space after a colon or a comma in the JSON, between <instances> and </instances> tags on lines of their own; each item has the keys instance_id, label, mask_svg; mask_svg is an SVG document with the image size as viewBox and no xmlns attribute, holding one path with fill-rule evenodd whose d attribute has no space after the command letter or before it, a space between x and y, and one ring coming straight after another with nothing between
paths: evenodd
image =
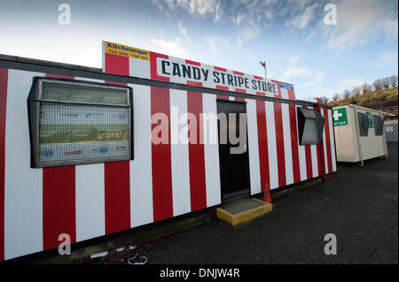
<instances>
[{"instance_id":1,"label":"left one of two red stripes directly below the mesh-covered window","mask_svg":"<svg viewBox=\"0 0 399 282\"><path fill-rule=\"evenodd\" d=\"M57 248L59 234L76 241L74 165L43 169L43 249Z\"/></svg>"}]
</instances>

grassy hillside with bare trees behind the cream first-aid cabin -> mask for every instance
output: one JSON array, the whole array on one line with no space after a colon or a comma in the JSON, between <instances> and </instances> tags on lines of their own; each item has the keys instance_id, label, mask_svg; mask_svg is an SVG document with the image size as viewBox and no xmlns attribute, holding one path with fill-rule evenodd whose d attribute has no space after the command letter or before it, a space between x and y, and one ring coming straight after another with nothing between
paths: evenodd
<instances>
[{"instance_id":1,"label":"grassy hillside with bare trees behind the cream first-aid cabin","mask_svg":"<svg viewBox=\"0 0 399 282\"><path fill-rule=\"evenodd\" d=\"M333 107L345 106L349 103L356 103L360 106L383 103L386 101L397 101L397 86L394 88L387 88L380 91L373 91L368 95L351 95L348 99L341 99L336 102L330 102Z\"/></svg>"}]
</instances>

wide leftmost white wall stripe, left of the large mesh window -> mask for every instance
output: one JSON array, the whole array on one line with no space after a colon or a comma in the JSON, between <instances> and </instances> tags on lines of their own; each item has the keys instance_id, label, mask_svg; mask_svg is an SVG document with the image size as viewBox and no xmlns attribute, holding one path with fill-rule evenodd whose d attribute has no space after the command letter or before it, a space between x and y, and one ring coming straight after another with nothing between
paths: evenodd
<instances>
[{"instance_id":1,"label":"wide leftmost white wall stripe, left of the large mesh window","mask_svg":"<svg viewBox=\"0 0 399 282\"><path fill-rule=\"evenodd\" d=\"M4 258L43 250L43 170L30 168L27 95L38 72L9 70L5 125Z\"/></svg>"}]
</instances>

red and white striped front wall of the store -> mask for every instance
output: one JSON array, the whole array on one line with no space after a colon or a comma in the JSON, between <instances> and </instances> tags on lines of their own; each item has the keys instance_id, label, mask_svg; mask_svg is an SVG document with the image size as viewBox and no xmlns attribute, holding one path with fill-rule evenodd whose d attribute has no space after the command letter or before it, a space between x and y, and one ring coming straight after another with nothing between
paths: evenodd
<instances>
[{"instance_id":1,"label":"red and white striped front wall of the store","mask_svg":"<svg viewBox=\"0 0 399 282\"><path fill-rule=\"evenodd\" d=\"M113 63L106 64L107 72L129 75L129 60ZM53 75L0 69L0 261L57 248L60 233L73 242L88 240L221 203L217 141L173 140L191 128L182 113L197 117L197 136L217 136L217 127L204 126L200 113L217 115L220 96L129 84L134 160L32 169L27 95L34 76ZM279 88L278 95L290 98L293 90ZM331 110L322 109L322 152L298 145L298 106L236 100L246 102L251 194L317 177L323 161L327 173L336 171ZM168 144L151 141L157 112L169 117Z\"/></svg>"}]
</instances>

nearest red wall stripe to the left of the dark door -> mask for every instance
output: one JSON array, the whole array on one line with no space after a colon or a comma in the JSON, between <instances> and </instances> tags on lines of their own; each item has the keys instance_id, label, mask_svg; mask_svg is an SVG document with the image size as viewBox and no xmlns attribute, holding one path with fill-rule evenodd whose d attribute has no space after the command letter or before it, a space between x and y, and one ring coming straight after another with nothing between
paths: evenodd
<instances>
[{"instance_id":1,"label":"nearest red wall stripe to the left of the dark door","mask_svg":"<svg viewBox=\"0 0 399 282\"><path fill-rule=\"evenodd\" d=\"M189 139L190 195L192 211L207 208L207 187L205 182L205 156L203 141L202 93L187 92L187 112L195 115L197 123L189 124L189 138L195 130L197 140Z\"/></svg>"}]
</instances>

